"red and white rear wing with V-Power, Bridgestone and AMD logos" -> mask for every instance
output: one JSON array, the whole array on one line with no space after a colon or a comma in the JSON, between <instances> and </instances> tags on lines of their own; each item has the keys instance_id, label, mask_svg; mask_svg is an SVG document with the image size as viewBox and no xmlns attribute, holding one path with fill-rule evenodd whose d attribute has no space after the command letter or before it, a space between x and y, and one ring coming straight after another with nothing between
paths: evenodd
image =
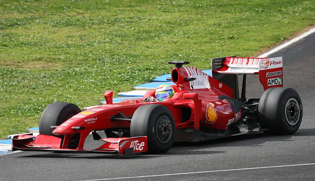
<instances>
[{"instance_id":1,"label":"red and white rear wing with V-Power, Bridgestone and AMD logos","mask_svg":"<svg viewBox=\"0 0 315 181\"><path fill-rule=\"evenodd\" d=\"M212 75L215 79L230 86L238 98L238 76L244 75L243 90L245 94L246 75L258 74L259 80L267 90L272 87L283 87L282 57L256 58L256 57L221 57L212 59ZM245 79L245 80L244 80ZM244 95L245 96L245 95Z\"/></svg>"}]
</instances>

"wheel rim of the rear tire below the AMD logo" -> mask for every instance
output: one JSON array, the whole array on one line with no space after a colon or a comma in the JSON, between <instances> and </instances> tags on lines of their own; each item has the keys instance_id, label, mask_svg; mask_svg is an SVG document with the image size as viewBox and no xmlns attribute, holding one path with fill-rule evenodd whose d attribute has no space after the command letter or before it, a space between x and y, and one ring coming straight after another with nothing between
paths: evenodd
<instances>
[{"instance_id":1,"label":"wheel rim of the rear tire below the AMD logo","mask_svg":"<svg viewBox=\"0 0 315 181\"><path fill-rule=\"evenodd\" d=\"M291 98L285 106L285 118L290 125L295 125L300 118L300 106L299 103Z\"/></svg>"}]
</instances>

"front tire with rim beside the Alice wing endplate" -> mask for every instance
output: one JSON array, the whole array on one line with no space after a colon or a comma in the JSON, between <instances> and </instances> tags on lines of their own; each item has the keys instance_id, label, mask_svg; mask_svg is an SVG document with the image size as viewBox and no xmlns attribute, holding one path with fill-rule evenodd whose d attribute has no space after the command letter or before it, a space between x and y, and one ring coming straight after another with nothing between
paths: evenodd
<instances>
[{"instance_id":1,"label":"front tire with rim beside the Alice wing endplate","mask_svg":"<svg viewBox=\"0 0 315 181\"><path fill-rule=\"evenodd\" d=\"M175 139L175 121L168 108L159 104L140 106L131 118L130 136L147 136L148 152L167 152Z\"/></svg>"}]
</instances>

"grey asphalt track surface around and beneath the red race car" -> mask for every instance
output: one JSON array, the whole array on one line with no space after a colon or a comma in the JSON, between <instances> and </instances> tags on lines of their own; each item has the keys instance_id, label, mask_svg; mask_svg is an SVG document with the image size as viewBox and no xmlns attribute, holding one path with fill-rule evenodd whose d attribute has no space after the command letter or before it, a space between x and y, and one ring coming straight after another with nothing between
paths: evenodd
<instances>
[{"instance_id":1,"label":"grey asphalt track surface around and beneath the red race car","mask_svg":"<svg viewBox=\"0 0 315 181\"><path fill-rule=\"evenodd\" d=\"M297 90L303 102L302 124L292 136L258 133L177 143L166 154L136 157L21 152L0 156L0 180L91 180L315 163L314 50L315 33L268 56L283 56L284 86ZM258 76L249 76L247 97L262 92ZM315 180L314 169L307 165L119 180Z\"/></svg>"}]
</instances>

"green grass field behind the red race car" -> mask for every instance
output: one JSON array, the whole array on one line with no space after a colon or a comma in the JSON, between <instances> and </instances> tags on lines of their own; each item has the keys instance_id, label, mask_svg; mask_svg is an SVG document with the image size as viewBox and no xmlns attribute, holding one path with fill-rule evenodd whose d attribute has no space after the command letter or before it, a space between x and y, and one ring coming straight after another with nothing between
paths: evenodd
<instances>
[{"instance_id":1,"label":"green grass field behind the red race car","mask_svg":"<svg viewBox=\"0 0 315 181\"><path fill-rule=\"evenodd\" d=\"M314 0L0 1L0 138L38 126L51 102L96 105L169 60L209 69L314 22Z\"/></svg>"}]
</instances>

